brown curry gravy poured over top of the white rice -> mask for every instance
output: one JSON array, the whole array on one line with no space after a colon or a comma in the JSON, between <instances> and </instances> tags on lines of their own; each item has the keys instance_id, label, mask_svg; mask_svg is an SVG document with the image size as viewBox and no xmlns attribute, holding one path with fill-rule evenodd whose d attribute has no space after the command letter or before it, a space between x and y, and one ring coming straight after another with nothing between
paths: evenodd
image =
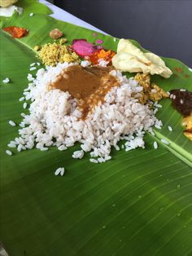
<instances>
[{"instance_id":1,"label":"brown curry gravy poured over top of the white rice","mask_svg":"<svg viewBox=\"0 0 192 256\"><path fill-rule=\"evenodd\" d=\"M116 77L112 77L111 67L91 66L83 68L72 65L59 74L50 89L68 91L72 97L79 99L82 118L85 119L98 103L103 103L104 97L112 87L120 86Z\"/></svg>"}]
</instances>

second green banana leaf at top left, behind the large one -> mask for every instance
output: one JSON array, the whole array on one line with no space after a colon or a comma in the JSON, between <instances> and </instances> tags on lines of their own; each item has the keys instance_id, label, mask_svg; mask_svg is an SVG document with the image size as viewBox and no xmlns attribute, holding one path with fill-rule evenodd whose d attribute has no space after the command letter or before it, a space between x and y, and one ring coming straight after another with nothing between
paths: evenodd
<instances>
[{"instance_id":1,"label":"second green banana leaf at top left, behind the large one","mask_svg":"<svg viewBox=\"0 0 192 256\"><path fill-rule=\"evenodd\" d=\"M15 3L17 7L24 8L23 14L28 15L30 13L52 14L52 11L45 4L40 3L38 0L19 0ZM9 20L9 17L0 16L1 20Z\"/></svg>"}]
</instances>

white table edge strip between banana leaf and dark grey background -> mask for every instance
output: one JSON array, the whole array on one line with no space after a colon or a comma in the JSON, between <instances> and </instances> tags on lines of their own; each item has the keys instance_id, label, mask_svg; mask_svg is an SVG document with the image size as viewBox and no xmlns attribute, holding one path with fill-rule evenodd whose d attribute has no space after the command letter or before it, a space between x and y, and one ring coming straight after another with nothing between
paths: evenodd
<instances>
[{"instance_id":1,"label":"white table edge strip between banana leaf and dark grey background","mask_svg":"<svg viewBox=\"0 0 192 256\"><path fill-rule=\"evenodd\" d=\"M51 11L53 11L53 14L51 14L50 16L54 17L57 20L63 20L63 21L84 27L85 29L92 29L96 32L107 34L107 33L103 32L102 30L97 29L94 26L92 26L91 24L85 22L84 20L76 18L76 16L68 13L68 11L64 11L59 7L55 7L55 5L50 2L47 2L45 0L39 0L39 2L46 4L46 6L49 7Z\"/></svg>"}]
</instances>

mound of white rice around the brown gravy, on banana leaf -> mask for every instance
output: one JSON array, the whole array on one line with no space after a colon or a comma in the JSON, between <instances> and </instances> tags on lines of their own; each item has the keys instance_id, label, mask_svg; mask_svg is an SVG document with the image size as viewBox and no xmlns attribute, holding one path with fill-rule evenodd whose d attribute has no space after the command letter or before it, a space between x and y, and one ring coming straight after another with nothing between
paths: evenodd
<instances>
[{"instance_id":1,"label":"mound of white rice around the brown gravy, on banana leaf","mask_svg":"<svg viewBox=\"0 0 192 256\"><path fill-rule=\"evenodd\" d=\"M55 82L59 73L70 65L73 64L41 68L36 79L28 75L31 82L25 96L32 103L29 114L23 114L20 138L15 139L17 148L36 147L43 151L56 146L65 150L79 142L82 150L74 152L72 157L82 158L84 152L90 152L91 157L97 157L90 159L94 162L111 159L111 147L119 150L117 143L120 139L126 140L125 151L145 148L145 131L152 132L151 126L159 126L159 121L152 108L138 103L142 86L133 78L123 76L120 71L112 70L111 75L117 77L120 86L113 87L105 96L104 103L81 120L77 99L72 99L68 92L49 90L50 83Z\"/></svg>"}]
</instances>

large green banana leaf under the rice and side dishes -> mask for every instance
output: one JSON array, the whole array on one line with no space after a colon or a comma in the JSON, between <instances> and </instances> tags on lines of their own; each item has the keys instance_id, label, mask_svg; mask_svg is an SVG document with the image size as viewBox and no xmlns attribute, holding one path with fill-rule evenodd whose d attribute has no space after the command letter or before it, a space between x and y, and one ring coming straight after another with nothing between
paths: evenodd
<instances>
[{"instance_id":1,"label":"large green banana leaf under the rice and side dishes","mask_svg":"<svg viewBox=\"0 0 192 256\"><path fill-rule=\"evenodd\" d=\"M29 64L37 61L33 47L51 42L48 34L55 28L65 33L68 42L99 38L112 50L118 42L100 33L95 38L93 31L46 15L14 14L1 24L9 25L30 32L20 40L0 33L0 240L8 253L192 255L192 143L183 135L181 115L168 99L161 101L163 108L157 114L164 127L155 130L155 137L146 135L146 148L112 150L112 160L106 163L89 162L89 154L82 160L72 159L79 144L64 152L34 148L15 150L11 157L6 154L7 143L19 129L8 121L21 121L24 109L19 98L28 84ZM154 76L154 82L164 90L192 90L189 68L178 60L163 59L173 75L169 79ZM174 68L182 68L183 73ZM6 77L11 83L2 83ZM162 138L170 144L161 143ZM65 167L65 175L55 177L60 166Z\"/></svg>"}]
</instances>

